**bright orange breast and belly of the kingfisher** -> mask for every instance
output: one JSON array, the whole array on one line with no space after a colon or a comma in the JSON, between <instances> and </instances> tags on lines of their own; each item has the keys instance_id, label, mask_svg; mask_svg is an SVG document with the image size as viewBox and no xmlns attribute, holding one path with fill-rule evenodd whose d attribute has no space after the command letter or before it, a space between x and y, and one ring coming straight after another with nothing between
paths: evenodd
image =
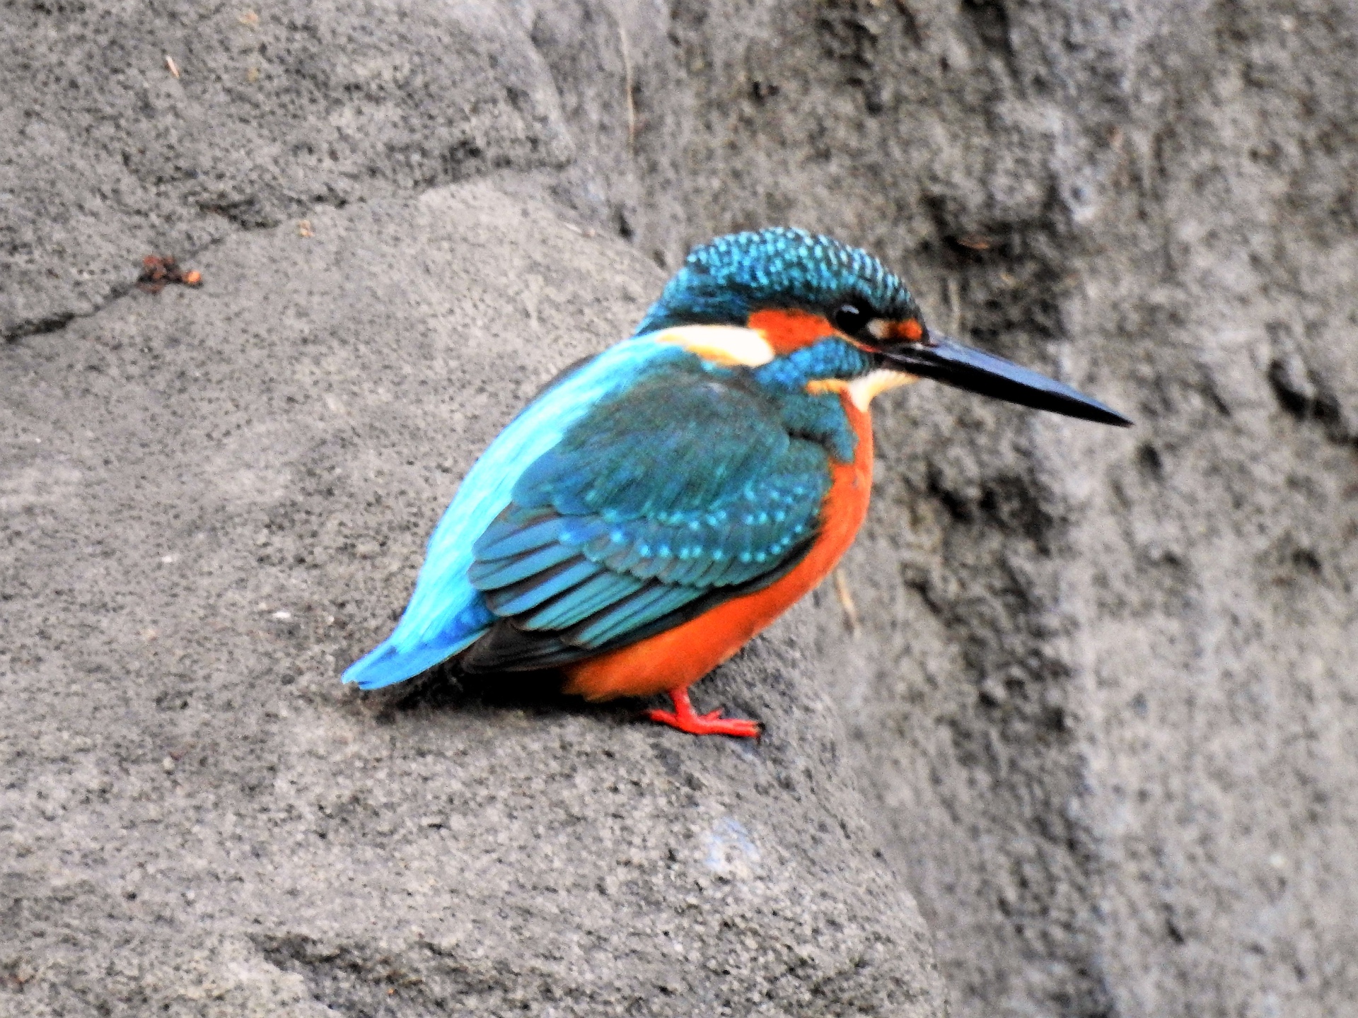
<instances>
[{"instance_id":1,"label":"bright orange breast and belly of the kingfisher","mask_svg":"<svg viewBox=\"0 0 1358 1018\"><path fill-rule=\"evenodd\" d=\"M785 577L743 597L733 597L697 619L637 643L566 668L565 691L589 700L652 696L691 685L732 657L762 628L826 578L853 544L872 495L872 419L841 394L858 436L853 463L831 467L832 482L822 505L815 544Z\"/></svg>"}]
</instances>

